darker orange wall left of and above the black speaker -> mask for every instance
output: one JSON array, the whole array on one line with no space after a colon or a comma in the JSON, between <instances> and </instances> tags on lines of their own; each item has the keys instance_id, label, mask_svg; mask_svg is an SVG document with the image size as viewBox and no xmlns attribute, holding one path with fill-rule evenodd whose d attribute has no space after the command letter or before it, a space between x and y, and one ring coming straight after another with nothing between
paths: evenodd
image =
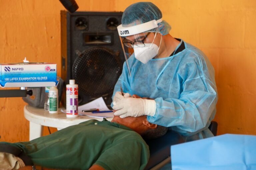
<instances>
[{"instance_id":1,"label":"darker orange wall left of and above the black speaker","mask_svg":"<svg viewBox=\"0 0 256 170\"><path fill-rule=\"evenodd\" d=\"M84 11L112 11L113 2L77 0ZM0 63L22 62L26 56L31 62L57 63L60 75L60 10L64 9L59 0L0 0ZM0 141L29 139L25 105L21 98L0 98ZM49 134L47 128L44 134Z\"/></svg>"}]
</instances>

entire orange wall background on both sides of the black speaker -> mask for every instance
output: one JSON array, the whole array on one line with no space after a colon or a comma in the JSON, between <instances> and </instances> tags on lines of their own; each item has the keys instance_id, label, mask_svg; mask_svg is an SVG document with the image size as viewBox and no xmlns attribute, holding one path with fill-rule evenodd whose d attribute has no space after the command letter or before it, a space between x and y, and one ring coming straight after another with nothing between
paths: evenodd
<instances>
[{"instance_id":1,"label":"entire orange wall background on both sides of the black speaker","mask_svg":"<svg viewBox=\"0 0 256 170\"><path fill-rule=\"evenodd\" d=\"M135 0L76 0L81 11L123 11ZM218 134L256 135L255 0L151 0L172 26L170 34L202 49L215 68ZM0 0L0 63L58 64L58 0ZM0 98L0 141L28 140L21 98ZM55 131L55 129L51 129ZM46 128L44 134L48 134Z\"/></svg>"}]
</instances>

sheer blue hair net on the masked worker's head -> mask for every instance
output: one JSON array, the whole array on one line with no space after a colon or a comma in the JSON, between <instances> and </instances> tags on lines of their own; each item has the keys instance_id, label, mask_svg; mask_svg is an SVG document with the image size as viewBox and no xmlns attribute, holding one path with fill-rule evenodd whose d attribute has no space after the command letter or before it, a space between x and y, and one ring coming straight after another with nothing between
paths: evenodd
<instances>
[{"instance_id":1,"label":"sheer blue hair net on the masked worker's head","mask_svg":"<svg viewBox=\"0 0 256 170\"><path fill-rule=\"evenodd\" d=\"M143 24L152 20L159 20L162 18L160 9L151 2L138 2L127 7L122 16L122 26L130 27L137 24ZM146 32L158 32L162 35L169 34L171 26L162 21L158 23L158 27Z\"/></svg>"}]
</instances>

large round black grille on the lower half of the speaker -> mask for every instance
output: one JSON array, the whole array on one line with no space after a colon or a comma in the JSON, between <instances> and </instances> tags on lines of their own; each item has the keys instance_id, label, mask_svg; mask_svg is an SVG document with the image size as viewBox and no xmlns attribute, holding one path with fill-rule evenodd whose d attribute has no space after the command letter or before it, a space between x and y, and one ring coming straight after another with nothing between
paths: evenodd
<instances>
[{"instance_id":1,"label":"large round black grille on the lower half of the speaker","mask_svg":"<svg viewBox=\"0 0 256 170\"><path fill-rule=\"evenodd\" d=\"M113 93L122 71L118 54L108 48L94 47L83 51L73 64L72 77L79 84L79 93L103 96Z\"/></svg>"}]
</instances>

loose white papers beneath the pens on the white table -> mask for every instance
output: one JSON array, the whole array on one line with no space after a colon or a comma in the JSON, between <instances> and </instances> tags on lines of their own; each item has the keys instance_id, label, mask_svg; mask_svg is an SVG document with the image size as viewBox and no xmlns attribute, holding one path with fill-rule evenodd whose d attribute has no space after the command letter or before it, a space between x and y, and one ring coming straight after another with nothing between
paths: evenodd
<instances>
[{"instance_id":1,"label":"loose white papers beneath the pens on the white table","mask_svg":"<svg viewBox=\"0 0 256 170\"><path fill-rule=\"evenodd\" d=\"M82 110L89 110L89 109L99 109L100 111L109 111L102 97L95 99L89 103L86 103L82 106L78 106L78 115L89 116L92 118L113 118L114 117L113 112L109 112L109 113L82 112ZM66 110L61 110L61 112L66 113Z\"/></svg>"}]
</instances>

